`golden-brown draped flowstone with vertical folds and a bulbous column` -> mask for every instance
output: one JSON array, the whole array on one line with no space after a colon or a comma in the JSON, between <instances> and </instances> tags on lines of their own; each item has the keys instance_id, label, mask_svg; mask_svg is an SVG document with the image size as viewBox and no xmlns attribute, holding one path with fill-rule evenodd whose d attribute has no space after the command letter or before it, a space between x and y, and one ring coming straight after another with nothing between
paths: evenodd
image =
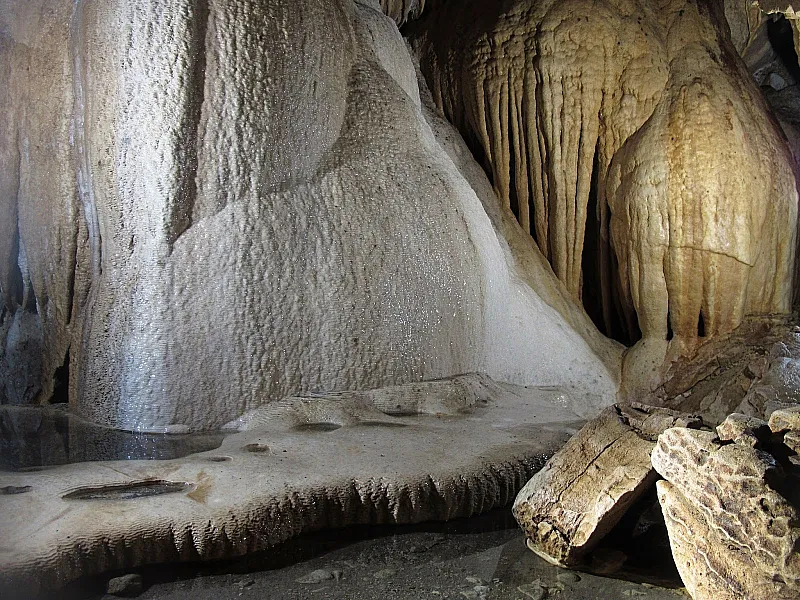
<instances>
[{"instance_id":1,"label":"golden-brown draped flowstone with vertical folds and a bulbous column","mask_svg":"<svg viewBox=\"0 0 800 600\"><path fill-rule=\"evenodd\" d=\"M788 312L792 160L715 2L473 0L410 32L555 274L608 333L641 330L632 363Z\"/></svg>"}]
</instances>

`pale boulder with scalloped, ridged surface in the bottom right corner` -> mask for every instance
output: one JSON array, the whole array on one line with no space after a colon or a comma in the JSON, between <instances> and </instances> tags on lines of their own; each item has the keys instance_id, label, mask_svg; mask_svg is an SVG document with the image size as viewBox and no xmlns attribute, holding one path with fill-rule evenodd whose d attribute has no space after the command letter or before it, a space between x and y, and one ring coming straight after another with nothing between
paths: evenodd
<instances>
[{"instance_id":1,"label":"pale boulder with scalloped, ridged surface in the bottom right corner","mask_svg":"<svg viewBox=\"0 0 800 600\"><path fill-rule=\"evenodd\" d=\"M712 432L665 431L652 454L673 557L695 600L796 600L800 529L775 459Z\"/></svg>"}]
</instances>

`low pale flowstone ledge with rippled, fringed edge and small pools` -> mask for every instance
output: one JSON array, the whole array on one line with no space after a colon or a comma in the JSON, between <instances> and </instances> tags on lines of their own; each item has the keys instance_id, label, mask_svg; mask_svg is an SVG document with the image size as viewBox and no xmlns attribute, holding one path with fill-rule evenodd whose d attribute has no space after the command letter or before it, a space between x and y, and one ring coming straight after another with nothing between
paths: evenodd
<instances>
[{"instance_id":1,"label":"low pale flowstone ledge with rippled, fringed edge and small pools","mask_svg":"<svg viewBox=\"0 0 800 600\"><path fill-rule=\"evenodd\" d=\"M398 389L296 398L185 458L2 471L0 597L229 559L322 528L507 506L580 424L553 389L474 375L425 387L408 398ZM380 398L408 410L379 410Z\"/></svg>"}]
</instances>

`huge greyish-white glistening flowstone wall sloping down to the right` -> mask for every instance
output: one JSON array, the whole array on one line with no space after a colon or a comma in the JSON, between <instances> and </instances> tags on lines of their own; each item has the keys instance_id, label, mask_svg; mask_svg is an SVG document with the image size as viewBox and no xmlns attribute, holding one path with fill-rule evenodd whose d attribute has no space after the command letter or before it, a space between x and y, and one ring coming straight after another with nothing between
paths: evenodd
<instances>
[{"instance_id":1,"label":"huge greyish-white glistening flowstone wall sloping down to the right","mask_svg":"<svg viewBox=\"0 0 800 600\"><path fill-rule=\"evenodd\" d=\"M139 431L470 371L614 401L621 348L484 207L379 3L3 0L0 77L0 401L59 382Z\"/></svg>"}]
</instances>

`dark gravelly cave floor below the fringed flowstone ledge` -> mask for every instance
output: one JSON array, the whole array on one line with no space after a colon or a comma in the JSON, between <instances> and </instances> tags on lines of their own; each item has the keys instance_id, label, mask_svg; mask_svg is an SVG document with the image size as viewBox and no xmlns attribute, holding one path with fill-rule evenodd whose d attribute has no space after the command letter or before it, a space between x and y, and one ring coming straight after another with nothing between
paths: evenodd
<instances>
[{"instance_id":1,"label":"dark gravelly cave floor below the fringed flowstone ledge","mask_svg":"<svg viewBox=\"0 0 800 600\"><path fill-rule=\"evenodd\" d=\"M677 574L663 564L644 575L621 570L606 577L551 566L525 547L510 510L448 523L326 531L236 561L136 572L144 580L142 600L686 598ZM103 595L107 578L76 582L57 597L111 600Z\"/></svg>"}]
</instances>

